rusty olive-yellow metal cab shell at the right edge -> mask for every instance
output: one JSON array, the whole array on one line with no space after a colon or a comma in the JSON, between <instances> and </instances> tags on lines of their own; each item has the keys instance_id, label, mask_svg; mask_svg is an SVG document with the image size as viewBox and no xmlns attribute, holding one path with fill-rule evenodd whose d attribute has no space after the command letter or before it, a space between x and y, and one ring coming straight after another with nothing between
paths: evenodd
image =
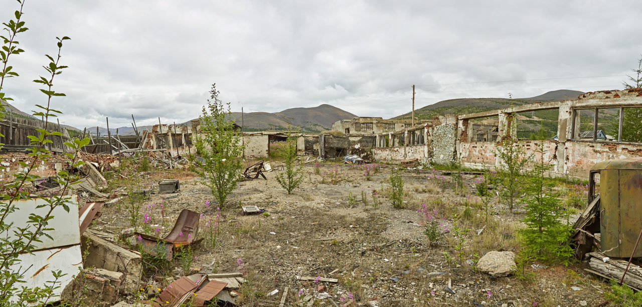
<instances>
[{"instance_id":1,"label":"rusty olive-yellow metal cab shell at the right edge","mask_svg":"<svg viewBox=\"0 0 642 307\"><path fill-rule=\"evenodd\" d=\"M642 245L636 248L642 229L642 158L600 162L592 170L600 170L602 253L616 258L642 256Z\"/></svg>"}]
</instances>

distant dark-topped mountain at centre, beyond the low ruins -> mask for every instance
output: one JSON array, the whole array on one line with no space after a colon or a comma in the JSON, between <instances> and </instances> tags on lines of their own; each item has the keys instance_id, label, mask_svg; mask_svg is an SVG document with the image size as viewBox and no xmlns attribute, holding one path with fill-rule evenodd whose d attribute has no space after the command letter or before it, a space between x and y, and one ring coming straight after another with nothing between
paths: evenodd
<instances>
[{"instance_id":1,"label":"distant dark-topped mountain at centre, beyond the low ruins","mask_svg":"<svg viewBox=\"0 0 642 307\"><path fill-rule=\"evenodd\" d=\"M337 120L352 119L357 115L336 108L329 104L321 104L312 108L291 108L276 113L251 112L244 113L241 120L241 113L232 113L234 121L243 130L265 130L270 128L287 129L290 126L300 128L306 132L320 132L330 129Z\"/></svg>"}]
</instances>

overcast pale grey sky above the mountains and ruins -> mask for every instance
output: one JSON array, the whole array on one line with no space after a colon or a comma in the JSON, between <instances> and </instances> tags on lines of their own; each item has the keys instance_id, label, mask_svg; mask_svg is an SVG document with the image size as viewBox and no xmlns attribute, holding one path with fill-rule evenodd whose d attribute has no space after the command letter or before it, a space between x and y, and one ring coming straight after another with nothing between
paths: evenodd
<instances>
[{"instance_id":1,"label":"overcast pale grey sky above the mountains and ruins","mask_svg":"<svg viewBox=\"0 0 642 307\"><path fill-rule=\"evenodd\" d=\"M18 7L0 0L0 20ZM46 103L31 80L71 37L53 107L81 129L194 119L212 83L233 111L385 118L410 111L413 84L416 108L621 89L642 53L638 1L26 0L24 13L21 76L4 90L24 112Z\"/></svg>"}]
</instances>

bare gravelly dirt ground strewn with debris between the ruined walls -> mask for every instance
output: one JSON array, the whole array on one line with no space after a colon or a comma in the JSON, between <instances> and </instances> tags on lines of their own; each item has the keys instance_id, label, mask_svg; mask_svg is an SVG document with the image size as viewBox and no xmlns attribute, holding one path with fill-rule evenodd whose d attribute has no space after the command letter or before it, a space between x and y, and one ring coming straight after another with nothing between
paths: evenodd
<instances>
[{"instance_id":1,"label":"bare gravelly dirt ground strewn with debris between the ruined walls","mask_svg":"<svg viewBox=\"0 0 642 307\"><path fill-rule=\"evenodd\" d=\"M107 192L116 197L132 185L157 192L160 179L180 179L180 192L154 194L144 201L142 210L148 217L142 219L148 223L143 230L164 236L181 210L203 213L198 237L205 240L194 245L189 267L245 273L241 306L278 306L286 286L286 306L594 306L609 291L603 281L584 272L581 263L538 269L528 263L525 272L532 274L526 278L490 278L476 272L475 261L488 251L517 252L515 231L523 217L494 199L486 219L473 195L477 175L464 175L464 189L455 191L451 176L404 170L406 208L395 209L386 197L388 165L372 176L365 176L363 167L347 164L320 163L318 174L316 170L315 163L304 164L305 179L291 195L275 179L279 170L266 172L267 180L243 181L220 210L209 188L188 170L123 169L126 179L113 176ZM461 217L465 203L473 210L467 219ZM467 229L461 261L452 231L429 244L418 226L423 222L417 213L422 204L437 210L447 228L457 222ZM265 213L243 215L240 206L250 205ZM102 211L92 228L120 233L130 227L125 201ZM216 224L216 215L220 228L212 247L208 225ZM483 231L478 235L479 229ZM166 286L183 274L180 261L184 260L162 269L150 265L146 282ZM300 281L297 276L338 282ZM267 295L275 289L278 294ZM318 299L320 292L330 299ZM308 295L315 295L311 304L301 301Z\"/></svg>"}]
</instances>

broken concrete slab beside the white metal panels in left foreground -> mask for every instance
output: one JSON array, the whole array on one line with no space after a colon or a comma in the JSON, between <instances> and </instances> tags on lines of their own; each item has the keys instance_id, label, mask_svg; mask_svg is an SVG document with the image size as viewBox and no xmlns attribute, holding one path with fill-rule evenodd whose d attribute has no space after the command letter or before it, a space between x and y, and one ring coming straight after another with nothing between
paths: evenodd
<instances>
[{"instance_id":1,"label":"broken concrete slab beside the white metal panels in left foreground","mask_svg":"<svg viewBox=\"0 0 642 307\"><path fill-rule=\"evenodd\" d=\"M82 235L82 250L87 251L85 267L121 272L125 275L125 292L138 290L143 272L141 253L104 240L88 229Z\"/></svg>"}]
</instances>

